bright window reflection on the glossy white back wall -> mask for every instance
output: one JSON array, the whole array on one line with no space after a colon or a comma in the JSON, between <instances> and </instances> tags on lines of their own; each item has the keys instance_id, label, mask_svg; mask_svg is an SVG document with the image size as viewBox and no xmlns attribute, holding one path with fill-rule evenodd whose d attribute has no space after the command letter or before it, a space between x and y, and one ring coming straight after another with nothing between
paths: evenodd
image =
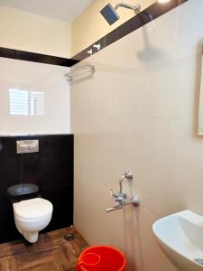
<instances>
[{"instance_id":1,"label":"bright window reflection on the glossy white back wall","mask_svg":"<svg viewBox=\"0 0 203 271\"><path fill-rule=\"evenodd\" d=\"M44 115L44 92L9 89L10 115Z\"/></svg>"}]
</instances>

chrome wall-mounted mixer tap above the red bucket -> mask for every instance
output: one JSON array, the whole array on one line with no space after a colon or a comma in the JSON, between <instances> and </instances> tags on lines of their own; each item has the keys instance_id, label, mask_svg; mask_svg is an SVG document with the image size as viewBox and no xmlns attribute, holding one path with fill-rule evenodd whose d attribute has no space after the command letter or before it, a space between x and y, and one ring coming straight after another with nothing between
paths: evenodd
<instances>
[{"instance_id":1,"label":"chrome wall-mounted mixer tap above the red bucket","mask_svg":"<svg viewBox=\"0 0 203 271\"><path fill-rule=\"evenodd\" d=\"M129 171L127 171L124 174L124 176L122 176L121 179L119 180L120 191L114 192L111 189L111 197L114 198L116 202L118 202L118 205L116 205L115 207L107 208L106 212L122 209L125 205L129 205L129 204L134 204L134 206L140 205L140 200L139 200L138 196L134 196L130 199L130 201L127 201L127 195L123 190L124 179L131 181L131 180L133 180L133 178L134 178L133 174L130 173Z\"/></svg>"}]
</instances>

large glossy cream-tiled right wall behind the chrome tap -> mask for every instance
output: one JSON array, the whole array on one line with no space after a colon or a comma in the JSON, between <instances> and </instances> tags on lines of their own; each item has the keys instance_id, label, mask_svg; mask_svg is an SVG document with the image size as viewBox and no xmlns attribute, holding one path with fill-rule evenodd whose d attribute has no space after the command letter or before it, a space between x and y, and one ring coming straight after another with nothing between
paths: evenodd
<instances>
[{"instance_id":1,"label":"large glossy cream-tiled right wall behind the chrome tap","mask_svg":"<svg viewBox=\"0 0 203 271\"><path fill-rule=\"evenodd\" d=\"M152 235L172 212L203 215L203 137L197 135L203 2L190 0L88 58L93 79L71 87L74 224L90 245L114 245L129 271L175 271ZM120 176L140 208L115 205Z\"/></svg>"}]
</instances>

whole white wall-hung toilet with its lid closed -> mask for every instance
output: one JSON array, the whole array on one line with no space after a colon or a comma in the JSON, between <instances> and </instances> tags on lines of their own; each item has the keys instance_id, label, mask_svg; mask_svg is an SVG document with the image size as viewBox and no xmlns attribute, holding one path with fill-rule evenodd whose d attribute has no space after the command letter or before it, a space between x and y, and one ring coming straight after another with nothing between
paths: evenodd
<instances>
[{"instance_id":1,"label":"whole white wall-hung toilet with its lid closed","mask_svg":"<svg viewBox=\"0 0 203 271\"><path fill-rule=\"evenodd\" d=\"M13 206L16 228L30 243L36 242L39 231L46 228L51 221L51 201L34 198L14 203Z\"/></svg>"}]
</instances>

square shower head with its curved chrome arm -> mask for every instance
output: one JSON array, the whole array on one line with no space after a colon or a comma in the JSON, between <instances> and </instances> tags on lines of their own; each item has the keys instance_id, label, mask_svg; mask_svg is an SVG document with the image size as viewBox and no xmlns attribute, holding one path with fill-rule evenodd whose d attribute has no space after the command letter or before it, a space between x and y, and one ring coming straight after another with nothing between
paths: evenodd
<instances>
[{"instance_id":1,"label":"square shower head with its curved chrome arm","mask_svg":"<svg viewBox=\"0 0 203 271\"><path fill-rule=\"evenodd\" d=\"M109 3L107 4L101 11L100 14L106 19L106 22L110 25L115 23L118 19L120 19L119 14L117 14L116 10L118 7L125 7L134 11L135 14L139 13L140 5L128 5L125 3L119 3L115 5L115 8Z\"/></svg>"}]
</instances>

